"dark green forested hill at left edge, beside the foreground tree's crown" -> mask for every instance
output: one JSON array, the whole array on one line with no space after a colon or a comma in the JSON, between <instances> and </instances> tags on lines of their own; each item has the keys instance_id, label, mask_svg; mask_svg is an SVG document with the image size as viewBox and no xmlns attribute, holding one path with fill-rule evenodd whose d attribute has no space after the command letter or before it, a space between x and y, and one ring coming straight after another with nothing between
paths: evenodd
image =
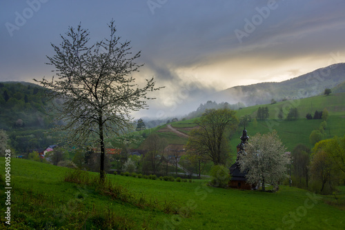
<instances>
[{"instance_id":1,"label":"dark green forested hill at left edge, beside the foreground tree's crown","mask_svg":"<svg viewBox=\"0 0 345 230\"><path fill-rule=\"evenodd\" d=\"M55 135L46 133L54 126L46 90L32 83L0 83L0 129L6 131L10 147L19 155L57 142Z\"/></svg>"}]
</instances>

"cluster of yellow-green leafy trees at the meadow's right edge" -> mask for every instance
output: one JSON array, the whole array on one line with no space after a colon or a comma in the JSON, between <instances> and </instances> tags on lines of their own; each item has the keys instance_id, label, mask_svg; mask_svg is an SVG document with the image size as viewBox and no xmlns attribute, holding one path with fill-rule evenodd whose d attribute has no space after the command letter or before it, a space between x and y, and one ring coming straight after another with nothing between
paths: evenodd
<instances>
[{"instance_id":1,"label":"cluster of yellow-green leafy trees at the meadow's right edge","mask_svg":"<svg viewBox=\"0 0 345 230\"><path fill-rule=\"evenodd\" d=\"M320 194L332 194L345 185L345 136L320 140L313 149L299 144L291 152L293 185Z\"/></svg>"}]
</instances>

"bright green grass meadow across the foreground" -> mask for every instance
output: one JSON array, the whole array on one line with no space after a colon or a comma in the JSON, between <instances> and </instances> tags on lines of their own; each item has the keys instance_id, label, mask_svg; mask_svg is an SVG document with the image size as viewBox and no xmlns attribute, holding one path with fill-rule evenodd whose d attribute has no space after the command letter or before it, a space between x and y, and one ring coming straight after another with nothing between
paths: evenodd
<instances>
[{"instance_id":1,"label":"bright green grass meadow across the foreground","mask_svg":"<svg viewBox=\"0 0 345 230\"><path fill-rule=\"evenodd\" d=\"M5 159L0 158L2 180L4 162ZM119 229L124 229L123 226L128 229L345 228L345 211L327 204L334 202L331 196L315 195L303 189L282 186L277 193L264 193L207 187L206 180L168 182L108 175L112 182L126 187L132 196L144 197L152 204L176 204L177 213L181 213L178 215L160 209L142 209L130 202L103 196L93 187L63 182L67 170L12 159L12 227L101 229L101 222L112 221L122 223ZM4 229L7 225L3 222L6 208L3 181L0 188L0 227ZM337 202L344 203L344 187L340 187L337 198Z\"/></svg>"}]
</instances>

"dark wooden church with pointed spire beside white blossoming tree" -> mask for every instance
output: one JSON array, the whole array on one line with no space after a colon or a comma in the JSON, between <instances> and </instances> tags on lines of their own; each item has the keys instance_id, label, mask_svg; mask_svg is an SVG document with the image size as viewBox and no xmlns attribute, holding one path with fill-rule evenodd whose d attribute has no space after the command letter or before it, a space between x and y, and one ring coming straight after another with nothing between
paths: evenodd
<instances>
[{"instance_id":1,"label":"dark wooden church with pointed spire beside white blossoming tree","mask_svg":"<svg viewBox=\"0 0 345 230\"><path fill-rule=\"evenodd\" d=\"M244 127L241 143L237 145L237 158L235 164L231 165L229 168L230 170L230 180L228 182L228 187L235 188L235 189L254 189L253 185L250 185L246 182L246 171L241 172L241 165L239 165L239 157L244 154L245 152L245 144L247 143L247 140L249 139L249 136L247 135L246 127Z\"/></svg>"}]
</instances>

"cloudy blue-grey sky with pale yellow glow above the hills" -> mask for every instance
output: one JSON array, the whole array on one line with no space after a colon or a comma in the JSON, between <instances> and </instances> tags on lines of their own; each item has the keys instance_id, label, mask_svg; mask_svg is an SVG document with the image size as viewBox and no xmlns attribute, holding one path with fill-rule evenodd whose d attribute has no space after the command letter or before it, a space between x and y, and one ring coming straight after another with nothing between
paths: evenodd
<instances>
[{"instance_id":1,"label":"cloudy blue-grey sky with pale yellow glow above the hills","mask_svg":"<svg viewBox=\"0 0 345 230\"><path fill-rule=\"evenodd\" d=\"M344 0L27 0L0 2L0 81L50 79L51 43L79 23L141 51L138 82L165 86L135 116L187 114L236 85L284 81L345 62Z\"/></svg>"}]
</instances>

